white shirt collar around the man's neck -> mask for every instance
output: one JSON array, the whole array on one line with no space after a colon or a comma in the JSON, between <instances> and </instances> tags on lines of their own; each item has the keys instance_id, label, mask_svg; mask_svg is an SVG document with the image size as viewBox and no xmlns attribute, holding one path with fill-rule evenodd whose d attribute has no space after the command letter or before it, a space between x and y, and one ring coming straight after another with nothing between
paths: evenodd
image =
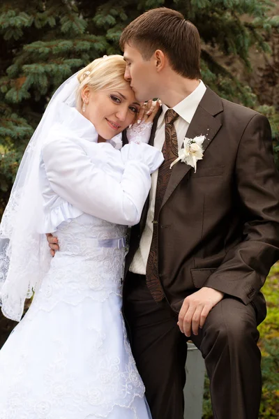
<instances>
[{"instance_id":1,"label":"white shirt collar around the man's neck","mask_svg":"<svg viewBox=\"0 0 279 419\"><path fill-rule=\"evenodd\" d=\"M192 91L189 96L186 96L181 102L177 103L177 105L172 108L175 110L176 113L179 114L179 117L184 119L184 121L188 122L190 125L193 116L195 115L195 112L197 110L197 107L199 105L199 102L202 100L202 96L204 96L204 93L206 91L206 86L202 80L199 80L199 85L196 87L194 91ZM167 105L163 103L162 105L162 113L158 119L157 128L160 128L165 122L165 112L167 112L169 108Z\"/></svg>"}]
</instances>

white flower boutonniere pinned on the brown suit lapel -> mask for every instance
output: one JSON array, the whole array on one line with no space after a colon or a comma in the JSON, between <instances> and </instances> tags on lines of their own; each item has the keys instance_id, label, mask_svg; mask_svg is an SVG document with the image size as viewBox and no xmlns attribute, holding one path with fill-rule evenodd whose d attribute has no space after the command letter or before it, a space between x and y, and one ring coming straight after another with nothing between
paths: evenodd
<instances>
[{"instance_id":1,"label":"white flower boutonniere pinned on the brown suit lapel","mask_svg":"<svg viewBox=\"0 0 279 419\"><path fill-rule=\"evenodd\" d=\"M202 160L204 156L204 149L202 148L204 140L205 135L199 135L199 137L195 138L184 138L183 147L179 150L179 156L172 162L170 168L178 161L181 161L181 163L186 163L195 168L196 172L197 161Z\"/></svg>"}]
</instances>

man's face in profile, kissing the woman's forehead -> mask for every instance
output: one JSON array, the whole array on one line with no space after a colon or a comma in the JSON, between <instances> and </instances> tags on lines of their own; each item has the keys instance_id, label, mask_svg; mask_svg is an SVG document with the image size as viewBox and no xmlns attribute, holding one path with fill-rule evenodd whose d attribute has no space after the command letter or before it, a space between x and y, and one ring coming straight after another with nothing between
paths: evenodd
<instances>
[{"instance_id":1,"label":"man's face in profile, kissing the woman's forehead","mask_svg":"<svg viewBox=\"0 0 279 419\"><path fill-rule=\"evenodd\" d=\"M154 57L144 60L141 52L127 43L123 57L127 64L124 78L130 82L137 101L144 102L158 97L158 73Z\"/></svg>"}]
</instances>

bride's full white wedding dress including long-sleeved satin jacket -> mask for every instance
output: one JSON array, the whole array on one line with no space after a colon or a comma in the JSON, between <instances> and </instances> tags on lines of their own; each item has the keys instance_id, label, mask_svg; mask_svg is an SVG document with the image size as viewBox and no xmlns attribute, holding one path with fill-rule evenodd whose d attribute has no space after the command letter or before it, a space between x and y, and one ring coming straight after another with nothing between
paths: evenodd
<instances>
[{"instance_id":1,"label":"bride's full white wedding dress including long-sleeved satin jacket","mask_svg":"<svg viewBox=\"0 0 279 419\"><path fill-rule=\"evenodd\" d=\"M124 224L138 221L162 156L147 145L120 152L97 144L90 123L80 131L82 115L67 110L67 120L63 112L40 172L40 230L55 231L60 251L0 351L0 419L150 419L121 314L121 283Z\"/></svg>"}]
</instances>

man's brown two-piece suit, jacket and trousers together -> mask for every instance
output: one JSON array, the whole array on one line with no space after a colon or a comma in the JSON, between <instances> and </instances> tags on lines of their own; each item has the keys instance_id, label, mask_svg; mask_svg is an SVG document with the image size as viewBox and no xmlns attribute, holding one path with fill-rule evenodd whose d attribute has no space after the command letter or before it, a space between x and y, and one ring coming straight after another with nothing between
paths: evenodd
<instances>
[{"instance_id":1,"label":"man's brown two-piece suit, jacket and trousers together","mask_svg":"<svg viewBox=\"0 0 279 419\"><path fill-rule=\"evenodd\" d=\"M156 119L156 121L158 118ZM156 131L153 124L151 144ZM197 172L176 163L158 216L158 271L165 300L128 272L146 222L133 227L124 314L153 419L182 419L186 340L176 325L185 297L203 286L225 293L198 336L211 378L214 417L257 419L261 392L259 292L279 258L279 177L268 120L207 88L187 137L206 135Z\"/></svg>"}]
</instances>

